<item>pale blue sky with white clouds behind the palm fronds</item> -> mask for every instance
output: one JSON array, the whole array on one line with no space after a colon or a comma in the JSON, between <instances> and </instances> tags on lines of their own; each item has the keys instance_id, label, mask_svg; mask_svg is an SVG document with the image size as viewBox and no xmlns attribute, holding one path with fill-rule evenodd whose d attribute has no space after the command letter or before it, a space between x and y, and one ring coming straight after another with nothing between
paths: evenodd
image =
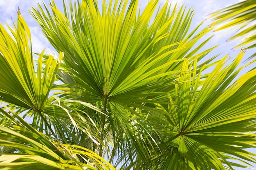
<instances>
[{"instance_id":1,"label":"pale blue sky with white clouds behind the palm fronds","mask_svg":"<svg viewBox=\"0 0 256 170\"><path fill-rule=\"evenodd\" d=\"M57 6L59 7L62 6L62 0L55 0L55 1ZM161 3L164 3L166 0L159 0L159 1L161 1ZM172 2L173 4L175 3L178 3L178 5L185 4L188 8L193 7L195 9L195 15L193 17L193 22L191 25L192 28L197 26L203 20L207 19L208 14L241 1L243 0L169 0L169 2ZM49 2L48 0L45 0L46 4L48 2ZM102 0L99 0L99 3L101 2ZM143 7L146 6L147 2L148 2L147 0L140 0L142 9ZM36 3L42 3L42 0L0 0L0 23L1 24L7 23L11 25L13 20L16 20L16 11L18 7L20 7L20 11L31 30L33 51L39 53L45 47L48 47L49 51L54 51L54 49L51 47L49 42L44 37L43 33L40 31L40 28L37 26L37 23L35 22L34 18L32 18L32 16L28 12L28 10L31 9L31 6L37 7ZM201 28L208 26L210 23L211 23L211 20L209 19L205 20ZM232 47L239 44L240 40L226 42L226 40L232 35L232 33L234 33L234 31L236 31L236 29L231 28L231 29L226 29L224 31L218 31L216 33L213 33L213 32L209 33L209 36L214 35L214 37L210 40L208 45L204 47L204 49L208 49L217 44L220 45L212 53L209 54L209 58L213 57L218 53L222 53L220 57L223 57L227 53L229 53L231 56L236 56L238 54L239 49L236 49L236 50L231 50L231 49ZM247 50L245 54L245 58L252 55L254 51L255 51L254 49ZM242 65L243 64L241 64L240 66ZM245 73L245 71L246 70L243 70L241 74ZM252 152L256 153L256 150L252 150ZM238 170L243 170L243 168L240 168Z\"/></svg>"}]
</instances>

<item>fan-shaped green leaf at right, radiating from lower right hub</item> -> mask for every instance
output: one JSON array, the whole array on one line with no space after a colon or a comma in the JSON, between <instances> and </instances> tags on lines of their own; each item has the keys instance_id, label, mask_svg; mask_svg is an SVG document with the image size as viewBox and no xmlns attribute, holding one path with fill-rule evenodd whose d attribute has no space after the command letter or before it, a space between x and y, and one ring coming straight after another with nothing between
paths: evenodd
<instances>
[{"instance_id":1,"label":"fan-shaped green leaf at right, radiating from lower right hub","mask_svg":"<svg viewBox=\"0 0 256 170\"><path fill-rule=\"evenodd\" d=\"M242 68L235 71L244 52L225 66L225 56L200 87L200 74L184 62L177 79L175 95L162 120L158 134L164 139L164 169L223 169L223 164L244 167L228 159L255 163L255 154L244 149L255 147L256 70L234 81ZM196 68L196 63L193 65ZM200 88L200 91L198 91ZM158 109L164 110L161 106ZM158 122L160 123L160 122ZM152 125L153 126L153 125ZM155 125L155 129L157 129ZM169 129L169 130L168 130ZM171 154L168 149L171 149Z\"/></svg>"}]
</instances>

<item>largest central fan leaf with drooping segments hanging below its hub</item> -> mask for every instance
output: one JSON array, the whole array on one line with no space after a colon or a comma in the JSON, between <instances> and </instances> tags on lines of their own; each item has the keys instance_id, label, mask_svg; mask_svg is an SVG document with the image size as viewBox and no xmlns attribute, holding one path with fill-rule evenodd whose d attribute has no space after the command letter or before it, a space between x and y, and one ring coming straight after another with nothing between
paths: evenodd
<instances>
[{"instance_id":1,"label":"largest central fan leaf with drooping segments hanging below its hub","mask_svg":"<svg viewBox=\"0 0 256 170\"><path fill-rule=\"evenodd\" d=\"M188 33L191 9L175 7L171 12L166 3L154 17L157 4L158 0L152 0L144 11L137 11L138 0L111 0L107 5L103 1L100 12L94 1L72 2L64 4L61 13L51 1L51 11L45 4L31 11L52 46L65 54L58 78L66 84L54 89L62 91L61 97L92 103L108 115L96 116L91 112L88 117L93 117L100 130L102 146L95 149L103 155L109 148L110 160L119 150L130 160L138 153L151 165L150 149L146 146L151 138L142 143L134 139L136 127L148 125L144 121L130 124L127 119L148 112L162 114L152 109L153 104L168 102L166 94L173 91L183 61L194 58L209 40L195 46L211 29L195 34L198 26ZM198 60L209 51L198 54ZM82 106L70 107L83 110ZM144 111L135 111L140 109ZM145 131L139 133L148 135Z\"/></svg>"}]
</instances>

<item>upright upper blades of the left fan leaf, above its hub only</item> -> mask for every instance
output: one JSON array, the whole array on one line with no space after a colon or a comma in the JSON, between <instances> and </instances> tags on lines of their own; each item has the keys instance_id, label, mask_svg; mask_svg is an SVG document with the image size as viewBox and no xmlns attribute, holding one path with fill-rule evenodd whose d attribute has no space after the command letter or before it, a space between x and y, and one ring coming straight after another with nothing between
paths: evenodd
<instances>
[{"instance_id":1,"label":"upright upper blades of the left fan leaf, above its hub only","mask_svg":"<svg viewBox=\"0 0 256 170\"><path fill-rule=\"evenodd\" d=\"M42 74L42 56L34 70L30 31L22 16L18 15L14 40L0 25L0 96L1 100L27 109L41 111L47 107L49 91L58 71L59 62L50 56ZM62 54L62 53L60 53ZM62 58L62 56L60 56Z\"/></svg>"}]
</instances>

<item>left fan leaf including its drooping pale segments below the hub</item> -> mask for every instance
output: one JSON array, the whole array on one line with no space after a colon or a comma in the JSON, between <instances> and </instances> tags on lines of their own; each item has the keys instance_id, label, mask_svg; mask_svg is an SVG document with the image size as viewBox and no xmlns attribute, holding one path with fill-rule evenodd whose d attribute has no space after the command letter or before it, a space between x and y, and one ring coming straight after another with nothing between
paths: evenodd
<instances>
[{"instance_id":1,"label":"left fan leaf including its drooping pale segments below the hub","mask_svg":"<svg viewBox=\"0 0 256 170\"><path fill-rule=\"evenodd\" d=\"M81 114L71 110L66 105L72 103L57 101L57 98L49 97L52 85L56 80L56 73L63 57L60 53L59 58L39 54L37 60L36 73L31 53L30 31L22 15L18 15L17 26L14 31L10 29L14 39L0 25L0 100L9 103L12 110L32 117L32 124L35 128L56 138L63 138L65 144L78 144L78 131L84 132L94 143L98 144L97 137L92 135L92 130L96 130L94 122L90 119L81 119ZM43 67L44 66L44 67ZM56 102L54 102L54 101ZM73 101L74 103L74 101ZM100 110L91 104L82 103L87 108ZM86 110L84 110L85 112ZM4 121L4 120L3 120ZM69 139L65 139L65 135ZM72 139L72 143L70 142Z\"/></svg>"}]
</instances>

